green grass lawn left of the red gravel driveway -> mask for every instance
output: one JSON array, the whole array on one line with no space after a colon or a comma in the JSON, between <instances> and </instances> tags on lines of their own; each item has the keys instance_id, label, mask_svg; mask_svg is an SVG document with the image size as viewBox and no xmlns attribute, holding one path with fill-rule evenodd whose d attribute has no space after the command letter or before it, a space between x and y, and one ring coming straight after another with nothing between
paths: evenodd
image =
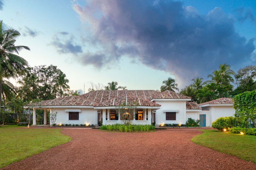
<instances>
[{"instance_id":1,"label":"green grass lawn left of the red gravel driveway","mask_svg":"<svg viewBox=\"0 0 256 170\"><path fill-rule=\"evenodd\" d=\"M60 133L60 129L1 127L0 168L70 140L71 137Z\"/></svg>"}]
</instances>

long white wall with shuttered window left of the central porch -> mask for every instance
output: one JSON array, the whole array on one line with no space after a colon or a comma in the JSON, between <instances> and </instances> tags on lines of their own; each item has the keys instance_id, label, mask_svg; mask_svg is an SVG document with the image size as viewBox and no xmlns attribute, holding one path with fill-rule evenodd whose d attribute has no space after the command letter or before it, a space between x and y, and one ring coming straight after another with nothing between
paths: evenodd
<instances>
[{"instance_id":1,"label":"long white wall with shuttered window left of the central porch","mask_svg":"<svg viewBox=\"0 0 256 170\"><path fill-rule=\"evenodd\" d=\"M94 108L79 108L79 120L68 120L68 112L65 112L65 109L71 108L53 108L54 111L58 112L56 124L98 124L97 110Z\"/></svg>"}]
</instances>

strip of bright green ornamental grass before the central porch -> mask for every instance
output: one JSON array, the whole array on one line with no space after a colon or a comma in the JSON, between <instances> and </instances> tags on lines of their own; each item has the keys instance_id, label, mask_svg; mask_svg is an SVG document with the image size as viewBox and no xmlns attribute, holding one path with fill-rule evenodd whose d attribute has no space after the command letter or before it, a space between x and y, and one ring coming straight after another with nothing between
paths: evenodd
<instances>
[{"instance_id":1,"label":"strip of bright green ornamental grass before the central porch","mask_svg":"<svg viewBox=\"0 0 256 170\"><path fill-rule=\"evenodd\" d=\"M113 124L113 125L102 125L101 130L107 131L118 131L118 132L148 132L155 130L153 125L124 125L124 124Z\"/></svg>"}]
</instances>

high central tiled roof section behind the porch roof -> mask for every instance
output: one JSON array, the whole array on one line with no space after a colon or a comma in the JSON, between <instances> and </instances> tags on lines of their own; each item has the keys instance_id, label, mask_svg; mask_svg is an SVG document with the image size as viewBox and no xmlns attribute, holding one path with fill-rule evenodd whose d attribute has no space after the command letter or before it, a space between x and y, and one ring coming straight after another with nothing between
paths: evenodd
<instances>
[{"instance_id":1,"label":"high central tiled roof section behind the porch roof","mask_svg":"<svg viewBox=\"0 0 256 170\"><path fill-rule=\"evenodd\" d=\"M145 100L152 100L153 97L157 94L160 94L160 92L155 90L97 90L82 94L79 97L91 100L95 103L101 103L103 101L107 101L124 94L130 94Z\"/></svg>"}]
</instances>

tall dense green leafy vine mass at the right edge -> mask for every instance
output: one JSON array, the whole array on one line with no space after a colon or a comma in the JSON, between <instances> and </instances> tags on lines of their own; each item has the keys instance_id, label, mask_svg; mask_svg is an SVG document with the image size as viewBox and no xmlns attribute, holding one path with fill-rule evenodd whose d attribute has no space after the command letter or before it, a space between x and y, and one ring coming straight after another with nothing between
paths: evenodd
<instances>
[{"instance_id":1,"label":"tall dense green leafy vine mass at the right edge","mask_svg":"<svg viewBox=\"0 0 256 170\"><path fill-rule=\"evenodd\" d=\"M256 90L243 92L234 97L235 116L241 121L241 125L247 125L247 121L256 120Z\"/></svg>"}]
</instances>

